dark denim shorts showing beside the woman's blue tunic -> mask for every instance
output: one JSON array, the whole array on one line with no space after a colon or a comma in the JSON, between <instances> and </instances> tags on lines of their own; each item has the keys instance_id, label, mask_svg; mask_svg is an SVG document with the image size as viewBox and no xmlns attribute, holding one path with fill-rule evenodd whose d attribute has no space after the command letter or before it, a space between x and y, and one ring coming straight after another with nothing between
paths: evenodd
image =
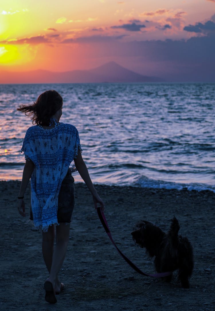
<instances>
[{"instance_id":1,"label":"dark denim shorts showing beside the woman's blue tunic","mask_svg":"<svg viewBox=\"0 0 215 311\"><path fill-rule=\"evenodd\" d=\"M58 222L71 222L72 212L75 205L75 187L74 178L69 169L66 177L63 179L61 189L58 195L58 209L57 221ZM33 220L32 209L30 207L30 220Z\"/></svg>"}]
</instances>

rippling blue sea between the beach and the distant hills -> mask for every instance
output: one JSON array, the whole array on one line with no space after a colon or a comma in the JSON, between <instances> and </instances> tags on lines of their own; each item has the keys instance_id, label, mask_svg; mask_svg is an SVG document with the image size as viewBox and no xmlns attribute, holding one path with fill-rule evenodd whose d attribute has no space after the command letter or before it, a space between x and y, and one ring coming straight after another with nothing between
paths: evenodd
<instances>
[{"instance_id":1,"label":"rippling blue sea between the beach and the distant hills","mask_svg":"<svg viewBox=\"0 0 215 311\"><path fill-rule=\"evenodd\" d=\"M215 191L214 83L1 84L0 180L22 178L32 123L16 109L50 89L94 183Z\"/></svg>"}]
</instances>

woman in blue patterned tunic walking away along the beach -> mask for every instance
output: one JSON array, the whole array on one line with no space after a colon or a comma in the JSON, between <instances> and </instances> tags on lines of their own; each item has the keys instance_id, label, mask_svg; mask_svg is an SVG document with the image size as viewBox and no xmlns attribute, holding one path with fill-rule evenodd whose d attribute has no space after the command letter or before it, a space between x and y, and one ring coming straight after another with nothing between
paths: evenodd
<instances>
[{"instance_id":1,"label":"woman in blue patterned tunic walking away along the beach","mask_svg":"<svg viewBox=\"0 0 215 311\"><path fill-rule=\"evenodd\" d=\"M37 124L27 130L21 149L26 162L18 195L18 211L25 216L23 198L31 179L33 221L35 226L42 228L43 258L50 273L44 283L45 299L49 303L56 303L55 295L64 289L57 275L65 258L70 232L68 224L74 207L74 179L69 170L72 160L93 195L95 208L104 210L104 203L82 159L77 129L71 124L59 123L62 104L61 95L51 90L39 95L33 105L21 105L17 109L30 116L33 124Z\"/></svg>"}]
</instances>

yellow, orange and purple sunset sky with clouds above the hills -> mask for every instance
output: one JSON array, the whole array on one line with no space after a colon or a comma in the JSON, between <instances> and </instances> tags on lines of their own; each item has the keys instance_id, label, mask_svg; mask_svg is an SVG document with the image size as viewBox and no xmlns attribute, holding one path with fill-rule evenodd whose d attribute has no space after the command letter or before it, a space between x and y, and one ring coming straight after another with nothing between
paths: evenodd
<instances>
[{"instance_id":1,"label":"yellow, orange and purple sunset sky with clouds above the hills","mask_svg":"<svg viewBox=\"0 0 215 311\"><path fill-rule=\"evenodd\" d=\"M215 81L214 55L215 0L0 2L0 71L115 61L144 75Z\"/></svg>"}]
</instances>

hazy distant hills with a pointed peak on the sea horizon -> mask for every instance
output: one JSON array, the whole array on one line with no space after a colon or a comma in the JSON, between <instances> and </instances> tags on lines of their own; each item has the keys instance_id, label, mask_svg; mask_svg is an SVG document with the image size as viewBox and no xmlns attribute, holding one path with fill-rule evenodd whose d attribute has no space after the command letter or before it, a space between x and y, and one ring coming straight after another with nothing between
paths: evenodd
<instances>
[{"instance_id":1,"label":"hazy distant hills with a pointed peak on the sea horizon","mask_svg":"<svg viewBox=\"0 0 215 311\"><path fill-rule=\"evenodd\" d=\"M0 71L0 83L91 83L91 82L160 82L158 77L140 75L115 62L109 62L90 70L51 72L34 70L28 72Z\"/></svg>"}]
</instances>

